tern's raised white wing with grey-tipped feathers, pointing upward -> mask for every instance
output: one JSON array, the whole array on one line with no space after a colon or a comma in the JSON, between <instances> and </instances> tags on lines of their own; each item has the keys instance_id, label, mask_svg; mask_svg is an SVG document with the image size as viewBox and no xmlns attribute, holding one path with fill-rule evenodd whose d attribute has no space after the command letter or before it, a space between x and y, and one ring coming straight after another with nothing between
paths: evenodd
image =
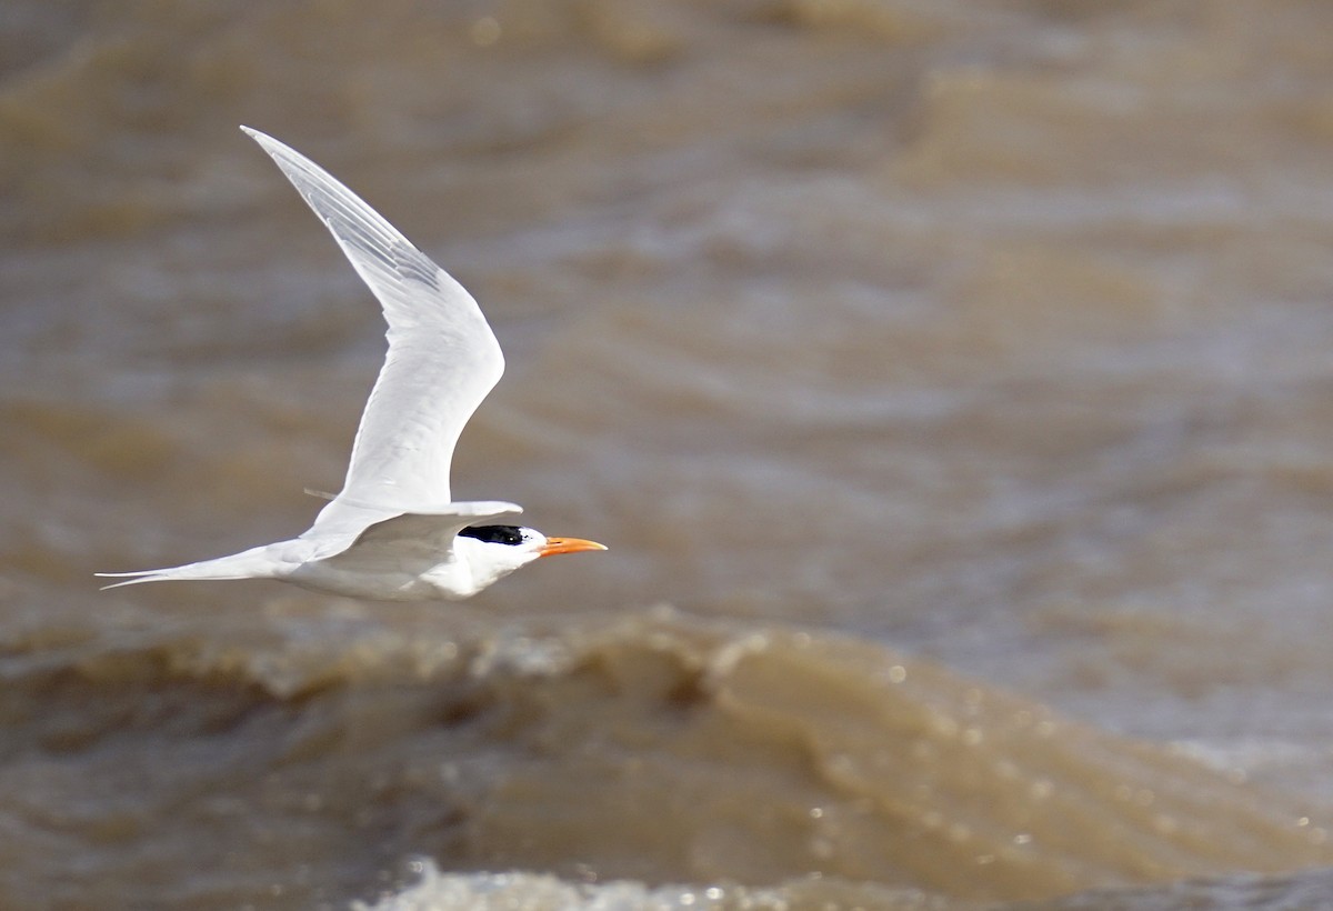
<instances>
[{"instance_id":1,"label":"tern's raised white wing with grey-tipped feathers, pointing upward","mask_svg":"<svg viewBox=\"0 0 1333 911\"><path fill-rule=\"evenodd\" d=\"M271 136L241 129L320 216L389 324L389 351L361 415L343 491L311 531L343 536L421 504L448 504L453 447L504 372L481 308L327 171Z\"/></svg>"}]
</instances>

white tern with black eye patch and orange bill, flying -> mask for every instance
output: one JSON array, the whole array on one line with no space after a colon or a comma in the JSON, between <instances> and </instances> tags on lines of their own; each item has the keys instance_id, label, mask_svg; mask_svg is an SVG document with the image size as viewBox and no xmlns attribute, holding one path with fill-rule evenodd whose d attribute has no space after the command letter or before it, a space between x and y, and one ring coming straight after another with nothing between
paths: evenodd
<instances>
[{"instance_id":1,"label":"white tern with black eye patch and orange bill, flying","mask_svg":"<svg viewBox=\"0 0 1333 911\"><path fill-rule=\"evenodd\" d=\"M271 136L268 152L333 233L389 324L343 491L292 540L165 570L99 572L107 588L171 579L280 579L380 600L471 598L541 556L607 550L500 524L513 503L455 503L453 447L500 380L504 355L461 284L328 172Z\"/></svg>"}]
</instances>

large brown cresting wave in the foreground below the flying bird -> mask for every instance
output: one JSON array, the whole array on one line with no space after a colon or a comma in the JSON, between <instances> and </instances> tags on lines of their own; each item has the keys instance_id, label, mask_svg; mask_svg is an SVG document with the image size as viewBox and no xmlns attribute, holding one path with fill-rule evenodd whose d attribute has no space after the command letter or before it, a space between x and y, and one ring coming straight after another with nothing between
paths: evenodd
<instances>
[{"instance_id":1,"label":"large brown cresting wave in the foreground below the flying bird","mask_svg":"<svg viewBox=\"0 0 1333 911\"><path fill-rule=\"evenodd\" d=\"M296 888L281 858L299 854L317 858L309 882L353 894L411 854L956 900L1333 862L1310 807L849 638L669 608L471 636L312 630L85 642L27 668L11 644L7 810L80 807L120 832L91 848L113 868L205 826L256 882ZM23 780L44 763L64 774Z\"/></svg>"}]
</instances>

